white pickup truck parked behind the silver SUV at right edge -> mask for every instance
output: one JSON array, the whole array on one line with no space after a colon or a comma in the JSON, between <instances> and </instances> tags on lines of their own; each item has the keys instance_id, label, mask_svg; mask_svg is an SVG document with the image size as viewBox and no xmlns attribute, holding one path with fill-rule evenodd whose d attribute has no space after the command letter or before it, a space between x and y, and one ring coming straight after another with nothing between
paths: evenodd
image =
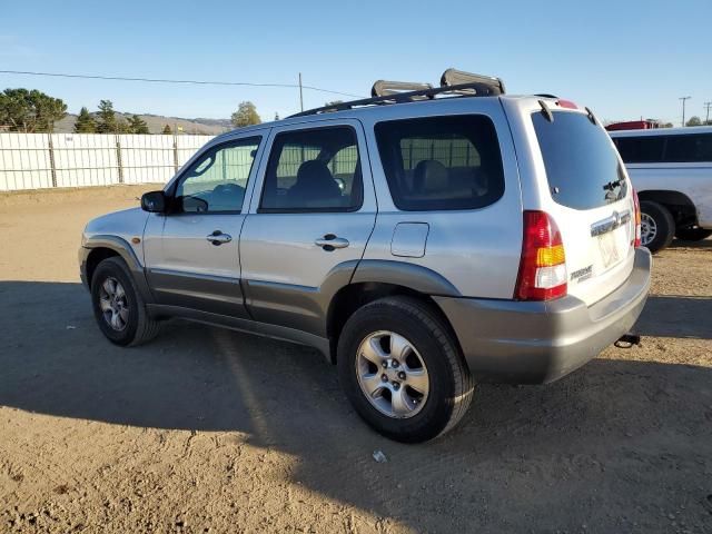
<instances>
[{"instance_id":1,"label":"white pickup truck parked behind the silver SUV at right edge","mask_svg":"<svg viewBox=\"0 0 712 534\"><path fill-rule=\"evenodd\" d=\"M641 201L642 244L712 235L712 127L611 131Z\"/></svg>"}]
</instances>

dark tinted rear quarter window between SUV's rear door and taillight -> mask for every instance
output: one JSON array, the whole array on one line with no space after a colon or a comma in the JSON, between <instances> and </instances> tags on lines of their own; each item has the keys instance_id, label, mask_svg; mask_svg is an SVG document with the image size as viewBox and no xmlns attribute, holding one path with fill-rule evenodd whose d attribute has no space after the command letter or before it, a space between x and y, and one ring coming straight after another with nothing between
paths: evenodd
<instances>
[{"instance_id":1,"label":"dark tinted rear quarter window between SUV's rear door and taillight","mask_svg":"<svg viewBox=\"0 0 712 534\"><path fill-rule=\"evenodd\" d=\"M375 130L398 209L475 209L504 194L500 144L487 117L393 120Z\"/></svg>"}]
</instances>

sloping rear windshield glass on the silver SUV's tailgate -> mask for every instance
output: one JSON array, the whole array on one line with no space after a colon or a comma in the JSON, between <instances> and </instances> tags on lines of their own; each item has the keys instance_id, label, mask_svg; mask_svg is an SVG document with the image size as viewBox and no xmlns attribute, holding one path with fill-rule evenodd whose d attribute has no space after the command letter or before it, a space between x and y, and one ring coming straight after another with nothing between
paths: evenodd
<instances>
[{"instance_id":1,"label":"sloping rear windshield glass on the silver SUV's tailgate","mask_svg":"<svg viewBox=\"0 0 712 534\"><path fill-rule=\"evenodd\" d=\"M532 115L552 198L574 209L593 209L625 198L625 174L603 128L583 113Z\"/></svg>"}]
</instances>

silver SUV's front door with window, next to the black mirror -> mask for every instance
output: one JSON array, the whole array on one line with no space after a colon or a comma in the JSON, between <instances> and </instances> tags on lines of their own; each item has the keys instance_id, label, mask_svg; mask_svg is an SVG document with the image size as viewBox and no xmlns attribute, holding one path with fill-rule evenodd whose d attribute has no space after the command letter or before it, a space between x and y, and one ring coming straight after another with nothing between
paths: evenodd
<instances>
[{"instance_id":1,"label":"silver SUV's front door with window, next to the black mirror","mask_svg":"<svg viewBox=\"0 0 712 534\"><path fill-rule=\"evenodd\" d=\"M158 304L246 317L239 235L260 141L205 149L167 189L169 212L149 217L147 277Z\"/></svg>"}]
</instances>

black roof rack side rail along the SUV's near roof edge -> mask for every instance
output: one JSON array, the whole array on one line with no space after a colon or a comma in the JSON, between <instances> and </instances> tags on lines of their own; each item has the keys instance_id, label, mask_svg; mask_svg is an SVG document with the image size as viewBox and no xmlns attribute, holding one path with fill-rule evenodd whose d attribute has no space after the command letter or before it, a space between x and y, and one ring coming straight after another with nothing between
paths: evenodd
<instances>
[{"instance_id":1,"label":"black roof rack side rail along the SUV's near roof edge","mask_svg":"<svg viewBox=\"0 0 712 534\"><path fill-rule=\"evenodd\" d=\"M421 89L417 91L394 92L393 95L384 95L382 97L363 98L360 100L350 100L348 102L338 102L320 108L309 109L295 113L291 117L306 117L309 115L319 115L332 111L344 111L359 106L374 106L386 103L403 103L423 100L424 98L435 98L438 95L453 95L457 97L493 97L501 95L500 89L492 82L473 81L469 83L458 83L446 87L433 87L431 89Z\"/></svg>"}]
</instances>

